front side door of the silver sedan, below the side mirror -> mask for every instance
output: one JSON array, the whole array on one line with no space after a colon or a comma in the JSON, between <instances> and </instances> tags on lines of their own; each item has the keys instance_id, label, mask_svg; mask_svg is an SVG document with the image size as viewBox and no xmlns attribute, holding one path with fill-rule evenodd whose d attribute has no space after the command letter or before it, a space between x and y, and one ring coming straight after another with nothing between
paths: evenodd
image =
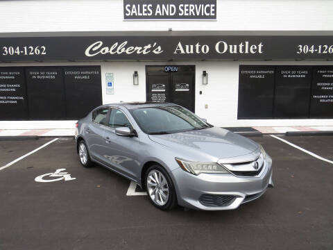
<instances>
[{"instance_id":1,"label":"front side door of the silver sedan, below the side mirror","mask_svg":"<svg viewBox=\"0 0 333 250\"><path fill-rule=\"evenodd\" d=\"M137 137L116 135L115 128L127 126L133 129L128 117L119 108L110 108L108 127L105 128L104 155L110 167L129 178L137 180L140 176L137 170Z\"/></svg>"}]
</instances>

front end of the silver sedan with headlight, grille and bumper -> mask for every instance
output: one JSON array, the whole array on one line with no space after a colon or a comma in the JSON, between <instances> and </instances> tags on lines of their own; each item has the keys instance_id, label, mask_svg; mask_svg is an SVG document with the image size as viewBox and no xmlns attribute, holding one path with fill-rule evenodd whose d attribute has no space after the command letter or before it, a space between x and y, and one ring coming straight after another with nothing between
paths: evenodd
<instances>
[{"instance_id":1,"label":"front end of the silver sedan with headlight, grille and bumper","mask_svg":"<svg viewBox=\"0 0 333 250\"><path fill-rule=\"evenodd\" d=\"M268 186L273 186L272 160L264 152L246 162L231 163L232 159L228 159L218 163L193 163L190 167L185 160L176 161L180 167L172 174L176 180L178 204L187 208L234 209L241 203L259 198Z\"/></svg>"}]
</instances>

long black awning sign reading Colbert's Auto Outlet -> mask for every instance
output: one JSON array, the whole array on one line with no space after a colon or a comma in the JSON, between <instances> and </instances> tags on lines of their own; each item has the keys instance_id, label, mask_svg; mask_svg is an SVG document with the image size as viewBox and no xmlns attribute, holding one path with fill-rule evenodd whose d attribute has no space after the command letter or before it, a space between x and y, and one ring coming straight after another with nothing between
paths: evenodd
<instances>
[{"instance_id":1,"label":"long black awning sign reading Colbert's Auto Outlet","mask_svg":"<svg viewBox=\"0 0 333 250\"><path fill-rule=\"evenodd\" d=\"M25 33L10 37L8 33L0 37L0 61L333 58L333 35L230 35L219 31L99 34L103 35L40 33L32 37Z\"/></svg>"}]
</instances>

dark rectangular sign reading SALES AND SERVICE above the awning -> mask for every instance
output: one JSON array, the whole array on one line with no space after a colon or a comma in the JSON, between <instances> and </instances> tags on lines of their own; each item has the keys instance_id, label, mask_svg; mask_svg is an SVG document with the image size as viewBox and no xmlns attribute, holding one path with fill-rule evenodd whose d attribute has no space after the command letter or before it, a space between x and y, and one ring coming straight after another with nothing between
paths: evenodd
<instances>
[{"instance_id":1,"label":"dark rectangular sign reading SALES AND SERVICE above the awning","mask_svg":"<svg viewBox=\"0 0 333 250\"><path fill-rule=\"evenodd\" d=\"M216 0L123 0L123 19L216 19Z\"/></svg>"}]
</instances>

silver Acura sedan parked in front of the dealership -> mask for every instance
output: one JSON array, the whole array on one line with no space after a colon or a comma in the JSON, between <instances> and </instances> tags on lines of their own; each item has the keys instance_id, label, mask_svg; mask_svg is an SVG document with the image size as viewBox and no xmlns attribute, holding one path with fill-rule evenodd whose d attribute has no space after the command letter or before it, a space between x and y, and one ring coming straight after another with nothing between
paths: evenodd
<instances>
[{"instance_id":1,"label":"silver Acura sedan parked in front of the dealership","mask_svg":"<svg viewBox=\"0 0 333 250\"><path fill-rule=\"evenodd\" d=\"M273 186L261 145L173 103L108 104L76 127L84 167L98 163L135 181L162 210L234 209Z\"/></svg>"}]
</instances>

